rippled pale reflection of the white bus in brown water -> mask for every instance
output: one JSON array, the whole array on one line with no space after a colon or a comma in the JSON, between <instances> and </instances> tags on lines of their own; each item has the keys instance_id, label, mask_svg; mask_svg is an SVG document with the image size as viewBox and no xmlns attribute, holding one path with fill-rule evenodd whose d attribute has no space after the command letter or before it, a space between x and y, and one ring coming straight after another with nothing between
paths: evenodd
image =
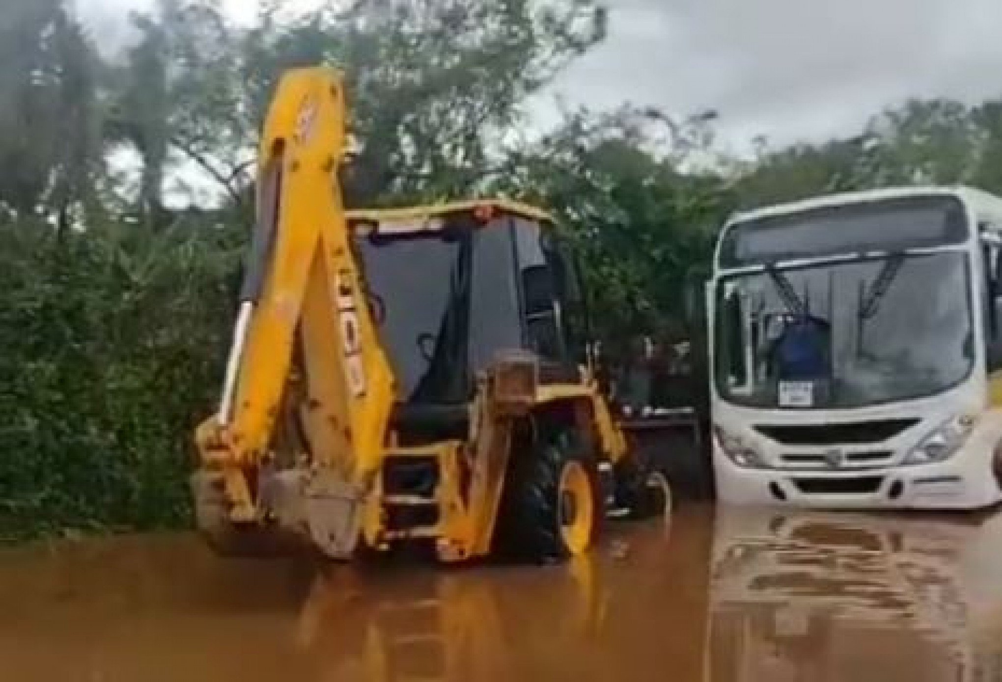
<instances>
[{"instance_id":1,"label":"rippled pale reflection of the white bus in brown water","mask_svg":"<svg viewBox=\"0 0 1002 682\"><path fill-rule=\"evenodd\" d=\"M720 510L711 679L1000 680L1000 541L991 518Z\"/></svg>"}]
</instances>

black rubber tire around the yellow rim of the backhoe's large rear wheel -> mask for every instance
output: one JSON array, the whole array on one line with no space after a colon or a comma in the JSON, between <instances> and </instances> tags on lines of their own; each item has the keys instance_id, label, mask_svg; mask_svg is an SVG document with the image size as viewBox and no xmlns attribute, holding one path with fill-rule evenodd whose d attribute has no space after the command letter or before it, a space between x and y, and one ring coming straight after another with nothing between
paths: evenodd
<instances>
[{"instance_id":1,"label":"black rubber tire around the yellow rim of the backhoe's large rear wheel","mask_svg":"<svg viewBox=\"0 0 1002 682\"><path fill-rule=\"evenodd\" d=\"M517 441L516 441L517 443ZM561 476L571 466L583 469L591 500L590 545L603 517L595 458L569 429L543 432L512 453L499 510L495 549L520 561L559 562L575 553L561 530Z\"/></svg>"}]
</instances>

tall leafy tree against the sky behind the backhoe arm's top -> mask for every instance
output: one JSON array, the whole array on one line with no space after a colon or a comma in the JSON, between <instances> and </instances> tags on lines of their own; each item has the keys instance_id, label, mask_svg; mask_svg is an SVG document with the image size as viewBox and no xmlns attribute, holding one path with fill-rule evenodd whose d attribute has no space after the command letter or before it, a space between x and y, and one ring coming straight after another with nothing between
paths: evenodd
<instances>
[{"instance_id":1,"label":"tall leafy tree against the sky behind the backhoe arm's top","mask_svg":"<svg viewBox=\"0 0 1002 682\"><path fill-rule=\"evenodd\" d=\"M193 6L218 22L211 6ZM266 3L248 31L213 31L209 44L226 49L211 59L177 65L187 96L171 97L185 111L172 143L212 166L232 197L246 186L248 155L288 68L346 72L357 152L344 178L349 200L414 201L469 191L496 171L491 152L524 122L529 96L605 30L593 0L362 0L293 20L276 7ZM164 26L190 35L191 24Z\"/></svg>"}]
</instances>

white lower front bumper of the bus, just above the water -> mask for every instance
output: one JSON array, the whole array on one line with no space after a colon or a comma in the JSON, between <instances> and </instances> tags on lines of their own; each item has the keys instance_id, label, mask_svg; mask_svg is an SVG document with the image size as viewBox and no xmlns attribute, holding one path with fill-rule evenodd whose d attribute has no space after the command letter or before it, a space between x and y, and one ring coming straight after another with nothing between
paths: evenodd
<instances>
[{"instance_id":1,"label":"white lower front bumper of the bus, just above the water","mask_svg":"<svg viewBox=\"0 0 1002 682\"><path fill-rule=\"evenodd\" d=\"M859 470L746 469L718 449L713 469L719 501L820 509L980 509L1002 500L991 463L958 457L929 465Z\"/></svg>"}]
</instances>

